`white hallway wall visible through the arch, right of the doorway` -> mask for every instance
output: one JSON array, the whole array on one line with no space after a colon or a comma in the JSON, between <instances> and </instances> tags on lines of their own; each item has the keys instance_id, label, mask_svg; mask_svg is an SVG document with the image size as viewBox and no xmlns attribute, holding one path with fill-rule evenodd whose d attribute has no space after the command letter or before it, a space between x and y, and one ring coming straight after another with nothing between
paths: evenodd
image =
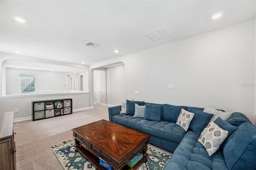
<instances>
[{"instance_id":1,"label":"white hallway wall visible through the arch, right of the doorway","mask_svg":"<svg viewBox=\"0 0 256 170\"><path fill-rule=\"evenodd\" d=\"M121 105L125 98L126 75L125 66L109 67L106 71L107 79L107 103L108 105Z\"/></svg>"}]
</instances>

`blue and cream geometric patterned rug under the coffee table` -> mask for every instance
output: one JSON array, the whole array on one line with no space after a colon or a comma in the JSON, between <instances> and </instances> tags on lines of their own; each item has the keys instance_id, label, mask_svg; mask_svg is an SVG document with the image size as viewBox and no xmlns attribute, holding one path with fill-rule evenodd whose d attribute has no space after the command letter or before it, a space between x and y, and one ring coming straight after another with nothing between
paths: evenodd
<instances>
[{"instance_id":1,"label":"blue and cream geometric patterned rug under the coffee table","mask_svg":"<svg viewBox=\"0 0 256 170\"><path fill-rule=\"evenodd\" d=\"M74 140L63 142L52 148L64 170L97 170L80 153L75 152ZM148 144L148 162L142 163L136 170L162 170L172 153Z\"/></svg>"}]
</instances>

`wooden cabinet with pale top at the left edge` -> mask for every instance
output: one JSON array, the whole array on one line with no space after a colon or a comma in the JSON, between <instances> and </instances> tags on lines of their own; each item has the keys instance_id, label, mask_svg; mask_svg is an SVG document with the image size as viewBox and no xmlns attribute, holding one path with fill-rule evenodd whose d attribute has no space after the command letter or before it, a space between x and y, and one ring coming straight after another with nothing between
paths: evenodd
<instances>
[{"instance_id":1,"label":"wooden cabinet with pale top at the left edge","mask_svg":"<svg viewBox=\"0 0 256 170\"><path fill-rule=\"evenodd\" d=\"M0 113L0 170L16 169L13 117L14 112Z\"/></svg>"}]
</instances>

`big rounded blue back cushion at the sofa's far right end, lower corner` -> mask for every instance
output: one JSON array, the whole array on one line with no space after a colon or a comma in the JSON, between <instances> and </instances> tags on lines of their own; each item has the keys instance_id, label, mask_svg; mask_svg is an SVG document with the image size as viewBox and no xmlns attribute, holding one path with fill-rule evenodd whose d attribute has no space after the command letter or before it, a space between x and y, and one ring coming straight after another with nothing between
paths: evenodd
<instances>
[{"instance_id":1,"label":"big rounded blue back cushion at the sofa's far right end, lower corner","mask_svg":"<svg viewBox=\"0 0 256 170\"><path fill-rule=\"evenodd\" d=\"M256 126L238 126L224 143L223 155L230 170L256 169Z\"/></svg>"}]
</instances>

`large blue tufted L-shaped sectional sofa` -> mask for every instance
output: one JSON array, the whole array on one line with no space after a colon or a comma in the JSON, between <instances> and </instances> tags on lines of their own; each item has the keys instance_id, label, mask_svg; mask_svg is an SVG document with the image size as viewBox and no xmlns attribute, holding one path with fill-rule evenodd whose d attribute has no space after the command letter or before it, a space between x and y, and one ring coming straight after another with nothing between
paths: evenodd
<instances>
[{"instance_id":1,"label":"large blue tufted L-shaped sectional sofa","mask_svg":"<svg viewBox=\"0 0 256 170\"><path fill-rule=\"evenodd\" d=\"M228 131L228 137L209 156L198 138L213 114L197 107L133 103L146 106L143 118L134 117L134 108L120 114L119 105L108 108L109 121L149 134L151 144L172 152L165 170L256 170L256 126L244 114L235 112L226 121L220 118L214 121ZM176 125L181 109L194 113L187 131Z\"/></svg>"}]
</instances>

